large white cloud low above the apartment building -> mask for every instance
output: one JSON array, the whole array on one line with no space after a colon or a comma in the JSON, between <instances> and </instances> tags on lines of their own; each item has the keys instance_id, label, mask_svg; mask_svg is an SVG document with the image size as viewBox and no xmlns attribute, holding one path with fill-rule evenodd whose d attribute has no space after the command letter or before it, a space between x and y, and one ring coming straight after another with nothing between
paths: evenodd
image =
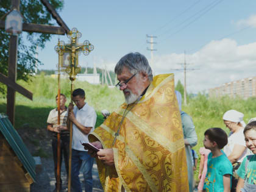
<instances>
[{"instance_id":1,"label":"large white cloud low above the apartment building","mask_svg":"<svg viewBox=\"0 0 256 192\"><path fill-rule=\"evenodd\" d=\"M187 90L197 93L218 87L226 82L255 76L256 42L238 46L235 40L222 39L211 41L194 54L186 54ZM183 71L171 69L182 68L184 54L155 55L151 65L155 74L174 73L176 83L183 84Z\"/></svg>"}]
</instances>

